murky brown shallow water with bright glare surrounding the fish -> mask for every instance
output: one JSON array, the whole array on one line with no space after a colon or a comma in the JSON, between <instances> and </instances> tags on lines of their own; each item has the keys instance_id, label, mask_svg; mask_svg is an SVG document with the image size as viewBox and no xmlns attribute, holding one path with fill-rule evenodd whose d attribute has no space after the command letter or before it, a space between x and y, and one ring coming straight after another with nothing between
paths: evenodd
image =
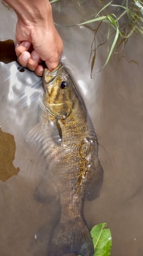
<instances>
[{"instance_id":1,"label":"murky brown shallow water with bright glare surrounding the fish","mask_svg":"<svg viewBox=\"0 0 143 256\"><path fill-rule=\"evenodd\" d=\"M58 5L53 5L55 23L83 22L93 14L93 2L82 11L71 3L69 12L61 1L60 14ZM104 1L97 2L95 11ZM0 40L15 41L15 13L1 4L0 17ZM103 24L98 31L97 46L105 41L107 28ZM100 197L85 202L84 217L90 228L107 223L112 234L111 256L142 256L142 39L136 34L129 37L124 51L112 55L107 66L97 73L105 63L108 45L99 47L91 79L89 58L94 32L77 26L57 29L64 41L62 61L91 115L104 169ZM20 168L17 175L0 181L0 252L2 256L45 256L58 207L34 200L35 187L46 166L26 142L28 131L38 123L40 78L26 69L19 72L16 61L0 62L0 66L0 125L4 133L14 136L13 165Z\"/></svg>"}]
</instances>

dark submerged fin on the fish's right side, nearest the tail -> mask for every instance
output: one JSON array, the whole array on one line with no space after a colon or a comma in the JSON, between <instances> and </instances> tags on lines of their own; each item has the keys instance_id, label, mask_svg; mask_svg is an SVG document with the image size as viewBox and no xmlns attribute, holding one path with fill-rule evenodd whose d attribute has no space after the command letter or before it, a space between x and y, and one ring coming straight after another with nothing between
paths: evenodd
<instances>
[{"instance_id":1,"label":"dark submerged fin on the fish's right side, nearest the tail","mask_svg":"<svg viewBox=\"0 0 143 256\"><path fill-rule=\"evenodd\" d=\"M90 184L86 198L89 201L92 201L99 197L100 189L102 187L103 183L103 168L101 166L101 163L99 159L95 161L95 173L92 180L92 183Z\"/></svg>"}]
</instances>

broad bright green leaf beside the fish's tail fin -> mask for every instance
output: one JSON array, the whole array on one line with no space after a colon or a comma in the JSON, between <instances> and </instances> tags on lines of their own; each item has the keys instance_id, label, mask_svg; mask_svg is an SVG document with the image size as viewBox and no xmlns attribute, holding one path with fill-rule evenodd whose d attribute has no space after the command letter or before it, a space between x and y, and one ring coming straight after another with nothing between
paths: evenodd
<instances>
[{"instance_id":1,"label":"broad bright green leaf beside the fish's tail fin","mask_svg":"<svg viewBox=\"0 0 143 256\"><path fill-rule=\"evenodd\" d=\"M93 227L91 236L94 243L94 256L109 256L111 249L111 232L109 228L104 229L106 223L101 223Z\"/></svg>"}]
</instances>

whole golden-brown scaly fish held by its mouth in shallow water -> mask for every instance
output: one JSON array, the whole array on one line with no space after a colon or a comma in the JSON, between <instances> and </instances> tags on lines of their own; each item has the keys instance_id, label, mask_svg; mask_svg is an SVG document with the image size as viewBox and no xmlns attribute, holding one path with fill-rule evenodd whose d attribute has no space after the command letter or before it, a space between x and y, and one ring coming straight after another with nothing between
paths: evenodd
<instances>
[{"instance_id":1,"label":"whole golden-brown scaly fish held by its mouth in shallow water","mask_svg":"<svg viewBox=\"0 0 143 256\"><path fill-rule=\"evenodd\" d=\"M83 216L85 199L99 197L103 168L90 115L62 63L43 71L40 121L28 140L42 140L47 174L37 187L38 200L60 202L61 217L49 242L48 255L94 254L93 240Z\"/></svg>"}]
</instances>

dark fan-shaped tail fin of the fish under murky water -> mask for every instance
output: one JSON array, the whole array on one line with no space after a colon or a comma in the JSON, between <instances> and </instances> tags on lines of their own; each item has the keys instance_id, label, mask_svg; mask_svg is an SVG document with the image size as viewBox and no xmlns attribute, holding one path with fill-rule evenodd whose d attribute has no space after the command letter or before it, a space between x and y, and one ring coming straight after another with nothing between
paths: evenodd
<instances>
[{"instance_id":1,"label":"dark fan-shaped tail fin of the fish under murky water","mask_svg":"<svg viewBox=\"0 0 143 256\"><path fill-rule=\"evenodd\" d=\"M77 255L93 256L94 246L87 224L81 222L60 222L49 243L49 256L62 256L75 252Z\"/></svg>"}]
</instances>

